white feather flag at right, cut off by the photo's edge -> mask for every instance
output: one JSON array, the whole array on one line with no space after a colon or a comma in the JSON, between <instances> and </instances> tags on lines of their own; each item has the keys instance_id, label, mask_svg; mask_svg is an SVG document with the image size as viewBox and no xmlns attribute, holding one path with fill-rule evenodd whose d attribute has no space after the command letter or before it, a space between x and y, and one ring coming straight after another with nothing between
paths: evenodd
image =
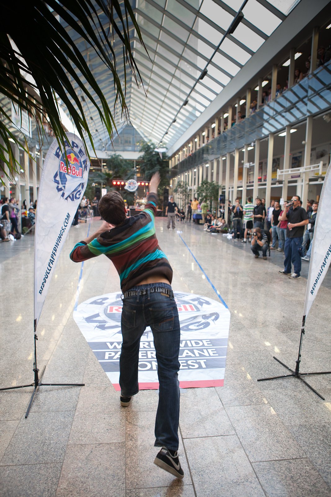
<instances>
[{"instance_id":1,"label":"white feather flag at right, cut off by the photo's edge","mask_svg":"<svg viewBox=\"0 0 331 497\"><path fill-rule=\"evenodd\" d=\"M324 178L322 193L315 222L312 255L304 307L304 318L307 317L317 292L327 274L331 262L331 164Z\"/></svg>"}]
</instances>

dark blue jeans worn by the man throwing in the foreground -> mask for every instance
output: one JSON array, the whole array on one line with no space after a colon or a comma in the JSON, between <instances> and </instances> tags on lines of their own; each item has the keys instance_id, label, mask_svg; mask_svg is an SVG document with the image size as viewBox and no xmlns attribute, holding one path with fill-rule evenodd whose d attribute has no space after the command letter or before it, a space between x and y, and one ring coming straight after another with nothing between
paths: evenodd
<instances>
[{"instance_id":1,"label":"dark blue jeans worn by the man throwing in the foreground","mask_svg":"<svg viewBox=\"0 0 331 497\"><path fill-rule=\"evenodd\" d=\"M122 350L120 356L120 386L124 397L139 391L138 362L140 338L150 326L157 360L159 404L155 419L156 447L178 450L179 381L178 361L180 324L175 299L154 292L155 287L168 288L166 283L150 283L130 288L138 295L123 298L121 318Z\"/></svg>"}]
</instances>

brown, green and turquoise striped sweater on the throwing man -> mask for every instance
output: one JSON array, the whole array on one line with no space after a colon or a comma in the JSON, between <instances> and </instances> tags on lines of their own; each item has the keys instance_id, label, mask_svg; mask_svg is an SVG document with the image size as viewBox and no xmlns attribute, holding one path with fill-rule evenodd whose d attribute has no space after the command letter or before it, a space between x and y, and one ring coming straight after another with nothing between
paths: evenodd
<instances>
[{"instance_id":1,"label":"brown, green and turquoise striped sweater on the throwing man","mask_svg":"<svg viewBox=\"0 0 331 497\"><path fill-rule=\"evenodd\" d=\"M77 243L70 252L70 259L81 262L105 254L119 273L122 292L149 276L167 278L171 283L172 268L155 235L156 210L157 195L149 193L146 208L140 214L130 216L89 244Z\"/></svg>"}]
</instances>

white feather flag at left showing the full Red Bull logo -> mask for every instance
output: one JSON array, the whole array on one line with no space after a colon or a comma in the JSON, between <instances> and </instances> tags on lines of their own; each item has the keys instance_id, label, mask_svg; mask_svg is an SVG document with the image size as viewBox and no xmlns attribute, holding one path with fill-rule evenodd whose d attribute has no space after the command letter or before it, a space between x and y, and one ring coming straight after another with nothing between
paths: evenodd
<instances>
[{"instance_id":1,"label":"white feather flag at left showing the full Red Bull logo","mask_svg":"<svg viewBox=\"0 0 331 497\"><path fill-rule=\"evenodd\" d=\"M90 162L83 142L67 133L65 152L55 139L40 179L34 246L34 326L42 311L54 268L85 191Z\"/></svg>"}]
</instances>

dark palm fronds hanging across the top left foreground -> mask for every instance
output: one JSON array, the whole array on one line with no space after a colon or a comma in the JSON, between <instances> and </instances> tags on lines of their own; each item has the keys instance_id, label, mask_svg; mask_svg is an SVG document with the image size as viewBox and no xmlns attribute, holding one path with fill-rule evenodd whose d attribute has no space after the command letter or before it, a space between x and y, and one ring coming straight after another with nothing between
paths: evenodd
<instances>
[{"instance_id":1,"label":"dark palm fronds hanging across the top left foreground","mask_svg":"<svg viewBox=\"0 0 331 497\"><path fill-rule=\"evenodd\" d=\"M43 122L49 122L61 148L66 141L60 114L60 106L63 106L86 150L86 141L95 150L91 124L86 120L82 102L97 109L112 139L116 130L113 113L121 112L128 117L127 67L135 81L141 81L132 56L130 30L134 28L142 45L143 41L131 0L33 0L19 2L19 10L15 2L2 0L0 6L0 92L4 96L0 100L0 168L6 176L19 170L12 143L28 152L27 140L18 138L10 110L3 103L6 99L13 102L21 120L25 112L37 123L40 134ZM113 36L123 44L124 87L119 76L123 67L117 65ZM90 53L89 56L78 50L77 39L84 42L84 52ZM90 69L92 54L109 70L109 84L114 85L114 110L109 108ZM8 167L9 174L4 166Z\"/></svg>"}]
</instances>

